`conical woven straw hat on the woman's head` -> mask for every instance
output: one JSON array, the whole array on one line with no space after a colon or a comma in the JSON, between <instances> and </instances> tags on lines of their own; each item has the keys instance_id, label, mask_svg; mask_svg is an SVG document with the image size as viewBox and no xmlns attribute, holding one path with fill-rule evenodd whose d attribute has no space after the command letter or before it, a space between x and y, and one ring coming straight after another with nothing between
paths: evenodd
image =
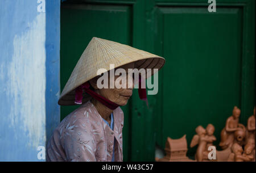
<instances>
[{"instance_id":1,"label":"conical woven straw hat on the woman's head","mask_svg":"<svg viewBox=\"0 0 256 173\"><path fill-rule=\"evenodd\" d=\"M130 62L135 62L137 69L160 69L165 60L129 45L93 37L61 92L58 103L63 106L75 105L75 88L96 77L98 69L112 70L110 64L116 68ZM83 95L82 103L85 103L90 96L86 93Z\"/></svg>"}]
</instances>

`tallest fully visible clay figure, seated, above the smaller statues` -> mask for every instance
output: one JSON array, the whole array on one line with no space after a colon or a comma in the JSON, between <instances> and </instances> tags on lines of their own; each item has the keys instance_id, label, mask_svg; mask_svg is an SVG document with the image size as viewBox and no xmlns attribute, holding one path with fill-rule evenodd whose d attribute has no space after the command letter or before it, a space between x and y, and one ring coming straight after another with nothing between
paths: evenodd
<instances>
[{"instance_id":1,"label":"tallest fully visible clay figure, seated, above the smaller statues","mask_svg":"<svg viewBox=\"0 0 256 173\"><path fill-rule=\"evenodd\" d=\"M234 142L234 132L243 126L239 123L240 109L236 106L233 109L233 114L226 120L226 126L221 131L221 142L220 147L224 150L231 147Z\"/></svg>"}]
</instances>

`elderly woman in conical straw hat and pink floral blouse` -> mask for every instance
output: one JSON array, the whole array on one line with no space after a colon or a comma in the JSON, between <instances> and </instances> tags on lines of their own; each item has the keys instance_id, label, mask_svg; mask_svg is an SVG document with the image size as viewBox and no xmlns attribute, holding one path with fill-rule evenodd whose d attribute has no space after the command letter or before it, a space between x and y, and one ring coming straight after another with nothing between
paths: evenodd
<instances>
[{"instance_id":1,"label":"elderly woman in conical straw hat and pink floral blouse","mask_svg":"<svg viewBox=\"0 0 256 173\"><path fill-rule=\"evenodd\" d=\"M47 146L47 161L122 161L123 111L119 106L125 106L133 94L134 75L129 69L160 69L164 62L164 58L143 50L93 37L58 102L81 106L54 130ZM125 79L130 77L131 82L123 83L118 74L111 80L111 71L118 69L125 71ZM99 70L107 75L106 88L99 87L102 83L98 80L104 77ZM142 78L138 81L141 83ZM116 83L123 87L116 87ZM146 99L146 89L141 86L139 96Z\"/></svg>"}]
</instances>

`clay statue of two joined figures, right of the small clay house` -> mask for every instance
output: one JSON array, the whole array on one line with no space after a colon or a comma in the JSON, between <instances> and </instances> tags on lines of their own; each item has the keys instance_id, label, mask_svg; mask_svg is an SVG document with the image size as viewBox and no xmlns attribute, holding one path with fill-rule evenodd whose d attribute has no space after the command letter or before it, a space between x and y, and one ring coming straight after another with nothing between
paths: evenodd
<instances>
[{"instance_id":1,"label":"clay statue of two joined figures, right of the small clay house","mask_svg":"<svg viewBox=\"0 0 256 173\"><path fill-rule=\"evenodd\" d=\"M198 145L196 150L196 161L202 162L203 159L207 159L208 156L208 143L212 144L216 138L212 135L214 132L214 126L209 125L208 126L209 134L207 135L207 131L203 128L203 126L199 125L196 128L196 133L191 141L190 147L194 147Z\"/></svg>"}]
</instances>

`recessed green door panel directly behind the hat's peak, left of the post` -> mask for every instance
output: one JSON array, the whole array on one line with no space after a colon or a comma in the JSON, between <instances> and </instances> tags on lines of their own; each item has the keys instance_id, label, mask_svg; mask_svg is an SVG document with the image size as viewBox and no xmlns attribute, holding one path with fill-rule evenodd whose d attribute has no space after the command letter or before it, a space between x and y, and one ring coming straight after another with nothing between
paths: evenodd
<instances>
[{"instance_id":1,"label":"recessed green door panel directly behind the hat's peak, left of the post","mask_svg":"<svg viewBox=\"0 0 256 173\"><path fill-rule=\"evenodd\" d=\"M114 19L114 20L113 20ZM93 36L131 45L131 8L127 5L63 3L61 6L61 91ZM129 115L129 104L122 107ZM61 120L79 106L61 106ZM129 116L123 127L123 160L129 155Z\"/></svg>"}]
</instances>

